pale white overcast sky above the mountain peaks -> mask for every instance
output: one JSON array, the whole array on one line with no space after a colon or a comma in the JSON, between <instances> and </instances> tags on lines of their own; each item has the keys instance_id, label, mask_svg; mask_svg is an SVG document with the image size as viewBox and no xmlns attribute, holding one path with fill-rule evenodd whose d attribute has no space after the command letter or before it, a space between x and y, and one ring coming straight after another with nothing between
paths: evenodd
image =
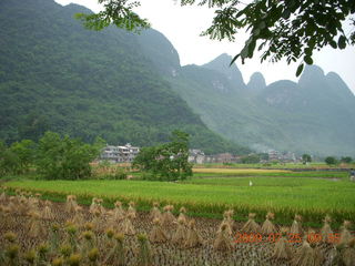
<instances>
[{"instance_id":1,"label":"pale white overcast sky above the mountain peaks","mask_svg":"<svg viewBox=\"0 0 355 266\"><path fill-rule=\"evenodd\" d=\"M97 0L55 0L61 4L75 2L99 11ZM235 55L245 41L245 33L241 32L236 42L220 42L200 37L207 29L213 18L213 10L201 7L180 7L174 0L141 0L142 6L136 12L146 18L152 28L162 32L174 45L180 55L182 65L204 64L219 57L221 53ZM314 63L320 65L325 73L334 71L338 73L355 94L355 47L345 50L325 48L314 53ZM247 83L252 73L260 71L270 84L277 80L294 80L298 63L287 65L285 62L260 63L260 58L246 60L245 64L236 62Z\"/></svg>"}]
</instances>

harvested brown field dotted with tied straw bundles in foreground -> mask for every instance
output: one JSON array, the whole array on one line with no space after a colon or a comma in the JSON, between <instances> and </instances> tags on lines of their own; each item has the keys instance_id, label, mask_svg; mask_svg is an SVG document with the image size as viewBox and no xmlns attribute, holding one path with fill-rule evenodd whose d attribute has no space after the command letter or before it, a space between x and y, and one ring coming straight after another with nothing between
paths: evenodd
<instances>
[{"instance_id":1,"label":"harvested brown field dotted with tied straw bundles in foreground","mask_svg":"<svg viewBox=\"0 0 355 266\"><path fill-rule=\"evenodd\" d=\"M322 229L315 232L304 228L297 214L290 227L278 227L273 223L274 213L267 213L260 225L254 213L242 224L234 221L233 209L224 212L222 222L190 218L183 206L176 217L173 209L172 205L161 209L154 202L149 213L141 213L134 202L120 201L108 209L97 197L85 207L74 195L61 204L44 201L40 194L3 187L0 264L355 265L349 221L344 221L336 233L332 218L325 216ZM261 242L260 237L268 241Z\"/></svg>"}]
</instances>

